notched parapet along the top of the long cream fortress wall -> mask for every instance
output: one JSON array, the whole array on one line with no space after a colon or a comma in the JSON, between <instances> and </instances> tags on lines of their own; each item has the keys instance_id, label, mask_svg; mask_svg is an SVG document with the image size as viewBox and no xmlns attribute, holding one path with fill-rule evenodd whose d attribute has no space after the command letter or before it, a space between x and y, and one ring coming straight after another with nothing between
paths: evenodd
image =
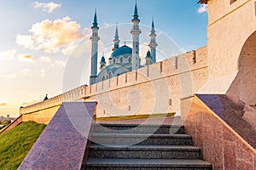
<instances>
[{"instance_id":1,"label":"notched parapet along the top of the long cream fortress wall","mask_svg":"<svg viewBox=\"0 0 256 170\"><path fill-rule=\"evenodd\" d=\"M179 88L178 85L180 82L178 77L188 73L191 74L192 78L200 78L198 75L200 76L202 74L205 76L202 79L207 78L207 46L162 60L137 71L126 72L118 77L112 77L111 79L90 86L82 85L79 88L74 88L34 105L20 107L20 114L45 110L56 105L61 105L64 101L96 101L96 96L106 94L110 91L113 92L123 88L145 85L148 82L157 82L166 78L170 79L170 77L173 77L171 78L173 80L171 82L166 81L169 84L169 88Z\"/></svg>"}]
</instances>

